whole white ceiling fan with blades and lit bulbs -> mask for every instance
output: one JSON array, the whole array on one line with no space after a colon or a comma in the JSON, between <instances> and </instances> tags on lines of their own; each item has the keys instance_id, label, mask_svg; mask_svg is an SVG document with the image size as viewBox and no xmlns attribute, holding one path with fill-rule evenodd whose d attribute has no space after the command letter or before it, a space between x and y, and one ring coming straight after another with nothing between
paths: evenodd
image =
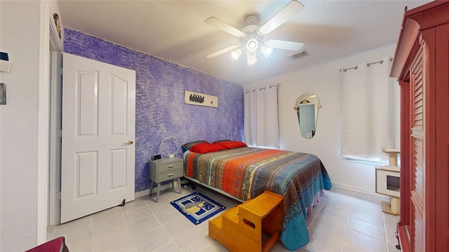
<instances>
[{"instance_id":1,"label":"whole white ceiling fan with blades and lit bulbs","mask_svg":"<svg viewBox=\"0 0 449 252\"><path fill-rule=\"evenodd\" d=\"M206 57L213 58L218 55L225 54L226 52L231 52L232 58L238 60L241 56L243 50L246 50L246 62L248 66L252 66L257 62L256 52L259 49L265 57L271 55L273 48L280 48L284 50L297 51L304 46L304 43L293 42L293 41L281 41L277 39L266 39L265 36L274 29L280 27L283 23L290 18L293 18L301 10L304 10L302 3L298 1L290 1L284 8L282 8L279 13L276 13L268 22L264 25L256 25L258 21L258 16L255 14L248 15L246 17L246 27L239 30L227 23L219 20L218 18L211 17L206 19L204 22L215 28L221 29L233 36L239 38L239 44L231 45L217 52L210 53Z\"/></svg>"}]
</instances>

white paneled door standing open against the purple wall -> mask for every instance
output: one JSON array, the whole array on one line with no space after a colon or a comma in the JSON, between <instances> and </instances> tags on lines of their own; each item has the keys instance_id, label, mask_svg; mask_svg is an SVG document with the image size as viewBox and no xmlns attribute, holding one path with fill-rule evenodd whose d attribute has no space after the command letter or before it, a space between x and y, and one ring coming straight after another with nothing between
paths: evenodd
<instances>
[{"instance_id":1,"label":"white paneled door standing open against the purple wall","mask_svg":"<svg viewBox=\"0 0 449 252\"><path fill-rule=\"evenodd\" d=\"M61 223L134 200L135 71L64 53Z\"/></svg>"}]
</instances>

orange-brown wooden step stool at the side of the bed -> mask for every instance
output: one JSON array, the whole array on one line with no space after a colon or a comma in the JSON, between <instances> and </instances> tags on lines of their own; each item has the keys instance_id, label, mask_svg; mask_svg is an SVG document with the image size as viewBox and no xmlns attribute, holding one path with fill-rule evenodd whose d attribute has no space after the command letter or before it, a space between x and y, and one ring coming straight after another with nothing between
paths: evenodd
<instances>
[{"instance_id":1,"label":"orange-brown wooden step stool at the side of the bed","mask_svg":"<svg viewBox=\"0 0 449 252\"><path fill-rule=\"evenodd\" d=\"M281 235L283 197L265 191L209 221L209 237L229 251L267 252ZM272 237L262 244L262 232Z\"/></svg>"}]
</instances>

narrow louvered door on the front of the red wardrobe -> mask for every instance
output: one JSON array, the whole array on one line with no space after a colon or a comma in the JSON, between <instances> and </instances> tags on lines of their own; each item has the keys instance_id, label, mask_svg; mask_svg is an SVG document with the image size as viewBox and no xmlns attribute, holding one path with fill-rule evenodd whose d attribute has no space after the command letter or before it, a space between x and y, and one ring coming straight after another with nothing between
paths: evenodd
<instances>
[{"instance_id":1,"label":"narrow louvered door on the front of the red wardrobe","mask_svg":"<svg viewBox=\"0 0 449 252\"><path fill-rule=\"evenodd\" d=\"M412 160L411 177L413 183L411 186L411 218L413 224L410 234L413 251L424 251L424 195L426 193L424 174L425 174L425 85L424 85L424 46L418 50L413 63L410 66L410 112L411 112L411 145L410 153Z\"/></svg>"}]
</instances>

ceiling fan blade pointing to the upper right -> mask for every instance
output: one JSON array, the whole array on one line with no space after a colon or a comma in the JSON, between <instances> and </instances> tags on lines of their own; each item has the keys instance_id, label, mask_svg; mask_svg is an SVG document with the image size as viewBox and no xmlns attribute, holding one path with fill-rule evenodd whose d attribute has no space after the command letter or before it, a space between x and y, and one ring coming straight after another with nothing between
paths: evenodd
<instances>
[{"instance_id":1,"label":"ceiling fan blade pointing to the upper right","mask_svg":"<svg viewBox=\"0 0 449 252\"><path fill-rule=\"evenodd\" d=\"M273 18L268 20L262 27L260 27L259 31L262 34L269 34L274 31L277 27L280 27L283 23L293 18L297 13L301 10L304 10L304 6L299 1L290 1L279 13L276 13Z\"/></svg>"}]
</instances>

